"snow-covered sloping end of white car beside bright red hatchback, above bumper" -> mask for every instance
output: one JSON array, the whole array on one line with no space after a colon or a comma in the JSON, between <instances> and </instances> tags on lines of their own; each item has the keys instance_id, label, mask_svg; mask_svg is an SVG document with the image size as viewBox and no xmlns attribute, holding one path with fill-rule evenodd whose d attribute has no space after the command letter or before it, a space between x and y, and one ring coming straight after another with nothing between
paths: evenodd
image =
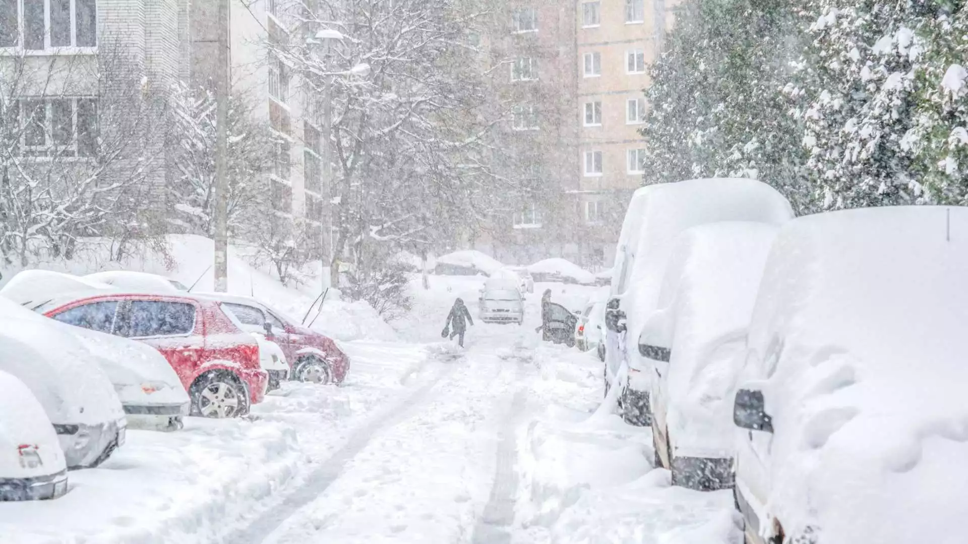
<instances>
[{"instance_id":1,"label":"snow-covered sloping end of white car beside bright red hatchback, above bumper","mask_svg":"<svg viewBox=\"0 0 968 544\"><path fill-rule=\"evenodd\" d=\"M188 393L157 349L109 334L71 327L73 334L105 371L125 406L181 405Z\"/></svg>"}]
</instances>

